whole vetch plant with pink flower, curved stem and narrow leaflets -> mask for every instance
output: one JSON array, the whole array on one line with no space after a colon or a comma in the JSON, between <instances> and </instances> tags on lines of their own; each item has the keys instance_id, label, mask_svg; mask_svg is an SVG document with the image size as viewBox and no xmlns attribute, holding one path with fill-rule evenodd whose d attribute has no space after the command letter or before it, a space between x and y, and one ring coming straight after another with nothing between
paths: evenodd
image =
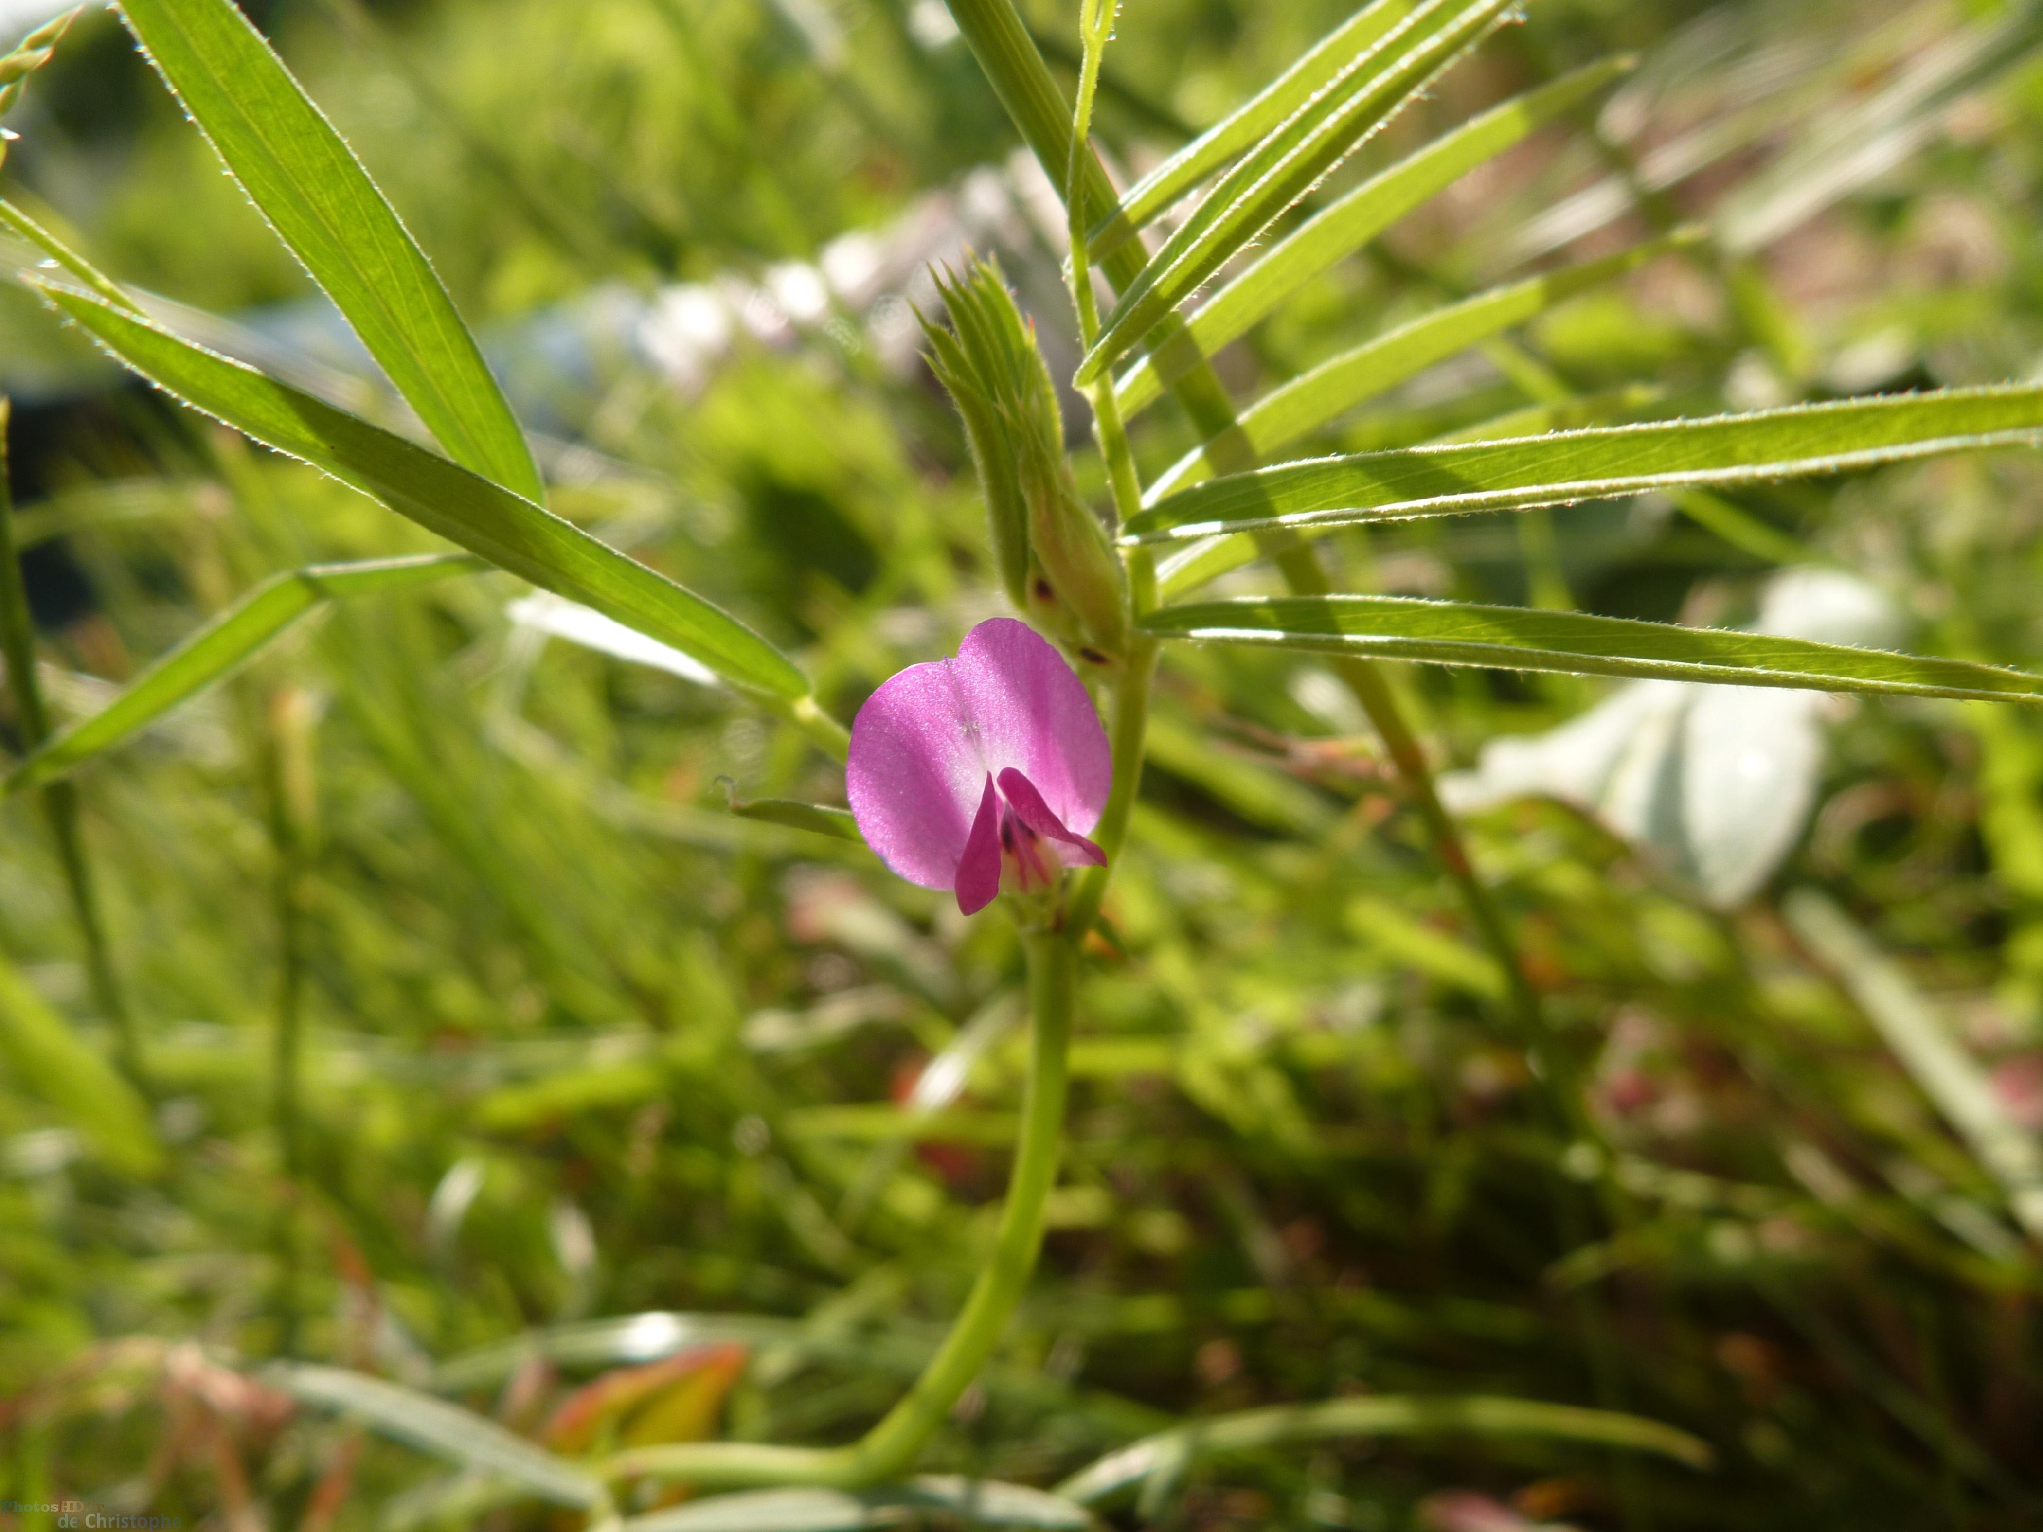
<instances>
[{"instance_id":1,"label":"whole vetch plant with pink flower, curved stem and narrow leaflets","mask_svg":"<svg viewBox=\"0 0 2043 1532\"><path fill-rule=\"evenodd\" d=\"M1265 92L1126 194L1113 190L1091 147L1093 102L1118 6L1085 0L1079 8L1075 102L1064 100L1011 0L952 0L952 14L1064 196L1071 308L1083 351L1073 384L1091 404L1109 502L1091 507L1079 492L1054 380L999 270L975 264L946 274L940 280L946 323L925 321L930 362L964 423L989 509L989 564L1022 617L979 623L954 658L932 656L881 682L848 731L832 711L832 688L819 692L809 670L750 625L548 509L548 484L531 447L431 264L229 0L127 0L125 16L221 159L347 317L439 449L176 333L121 282L20 208L0 202L0 219L61 268L61 274L35 270L22 280L127 368L464 549L280 574L145 670L96 721L47 737L33 729L27 752L4 778L6 791L57 793L69 772L217 684L319 605L488 566L688 656L705 674L799 729L823 758L844 762L856 827L899 876L950 891L964 915L989 907L999 913L999 895L1011 895L1005 913L1019 929L1026 962L1030 1072L1005 1201L962 1311L899 1401L856 1440L656 1442L570 1465L452 1405L411 1407L392 1385L364 1387L335 1369L290 1367L274 1375L304 1401L345 1409L425 1450L488 1467L535 1495L586 1510L592 1524L615 1524L619 1489L637 1483L774 1487L782 1499L750 1505L762 1516L770 1510L791 1518L789 1524L815 1526L838 1526L827 1518L874 1507L893 1514L960 1503L954 1485L923 1479L901 1487L901 1481L921 1465L983 1375L1036 1268L1064 1148L1081 954L1128 846L1165 643L1328 660L1375 727L1442 874L1467 901L1508 997L1508 1025L1500 1032L1530 1060L1549 1115L1585 1150L1575 1162L1589 1164L1591 1181L1608 1158L1583 1119L1575 1060L1542 1015L1510 923L1442 807L1420 731L1379 662L2043 703L2037 676L1967 660L1336 590L1320 539L1365 523L1545 513L1589 498L2025 447L2043 433L2043 388L2010 384L1714 419L1614 425L1604 417L1565 431L1526 431L1512 417L1477 431L1479 439L1318 453L1326 445L1322 427L1359 402L1647 259L1696 249L1704 239L1696 231L1669 231L1620 255L1465 296L1283 380L1261 400L1236 402L1211 366L1220 345L1248 333L1395 217L1589 100L1624 71L1624 61L1493 108L1330 204L1314 204L1293 227L1301 202L1357 149L1510 20L1506 0L1363 6ZM1183 219L1150 241L1146 231L1171 206L1183 206ZM1201 300L1214 282L1218 290ZM1165 392L1175 396L1197 441L1175 468L1144 484L1130 431ZM1594 419L1596 400L1573 402ZM1318 456L1285 456L1301 443ZM1285 592L1181 601L1252 564L1269 566ZM10 684L29 699L33 666L22 658L20 601L6 588L0 601L10 607ZM787 823L836 833L819 807L807 819L797 809L789 805ZM80 915L88 917L86 901ZM282 1091L280 1097L294 1099ZM1557 1217L1581 1215L1569 1201L1573 1195L1571 1187L1557 1191ZM1165 1432L1077 1475L1060 1497L1007 1487L1009 1497L989 1505L1005 1503L1017 1524L1081 1526L1087 1520L1081 1501L1138 1483L1154 1493L1144 1510L1158 1510L1189 1456L1203 1448L1422 1432L1549 1436L1690 1465L1708 1456L1694 1438L1616 1407L1381 1397L1258 1411L1203 1432ZM827 1493L789 1501L789 1487ZM682 1532L691 1516L713 1516L719 1503L656 1512L639 1526ZM746 1503L721 1503L721 1512L744 1516ZM801 1522L801 1516L821 1520Z\"/></svg>"}]
</instances>

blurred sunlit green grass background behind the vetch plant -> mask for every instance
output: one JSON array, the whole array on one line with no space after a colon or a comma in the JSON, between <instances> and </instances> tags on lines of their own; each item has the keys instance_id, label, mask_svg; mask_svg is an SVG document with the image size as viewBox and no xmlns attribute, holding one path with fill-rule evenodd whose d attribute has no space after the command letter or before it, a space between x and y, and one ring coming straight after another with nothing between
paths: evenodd
<instances>
[{"instance_id":1,"label":"blurred sunlit green grass background behind the vetch plant","mask_svg":"<svg viewBox=\"0 0 2043 1532\"><path fill-rule=\"evenodd\" d=\"M1075 6L1026 12L1068 53ZM1107 149L1154 159L1173 125L1216 121L1342 14L1136 0L1107 59ZM1569 194L1651 184L1657 151L1712 125L1724 147L1628 214L1626 239L1763 202L1769 163L1822 149L1828 121L1855 131L1843 149L1894 129L1849 112L1994 14L1542 0L1342 176L1614 49L1645 51L1636 86L1320 280L1222 360L1230 382L1487 284L1540 253L1526 231ZM262 20L486 337L605 284L758 278L1013 149L925 2L290 0ZM2043 69L2021 49L1994 63L1906 116L1927 127L1904 155L1749 257L1663 259L1326 443L1404 445L1641 380L1675 415L2033 376ZM14 184L125 280L221 313L308 292L110 14L78 22L14 127ZM1596 229L1563 243L1618 247ZM1038 323L1068 329L1062 310ZM16 525L61 531L90 588L43 635L67 715L278 570L433 547L114 386L20 294L0 333L8 386L88 390L14 425L35 464ZM1154 415L1146 470L1191 445L1171 406ZM564 417L580 451L554 468L556 509L797 650L840 717L997 609L962 431L856 327L740 339L695 390L611 360ZM1079 470L1099 498L1097 460ZM1912 650L2033 670L2039 507L2037 460L1996 453L1741 490L1718 531L1645 498L1326 547L1352 588L1528 601L1532 568L1583 611L1728 623L1786 541L1886 590ZM1542 556L1524 525L1551 525ZM723 692L509 623L513 594L474 576L337 607L82 776L174 1164L123 1175L90 1103L0 1060L0 1501L208 1526L558 1524L488 1510L452 1467L292 1411L237 1369L331 1360L539 1438L576 1389L648 1356L627 1330L554 1362L482 1348L656 1309L756 1315L785 1326L735 1336L752 1365L721 1430L832 1442L897 1397L956 1311L1013 1138L1011 933L858 846L725 813L723 778L823 803L842 780ZM1083 980L1046 1264L936 1467L1054 1483L1187 1416L1495 1393L1661 1420L1716 1461L1318 1442L1195 1463L1175 1497L1111 1516L2033 1524L2037 1236L1861 1009L1851 962L1779 897L1851 911L2043 1132L2043 725L1839 707L1808 833L1730 911L1581 813L1473 817L1598 1150L1542 1126L1502 976L1330 682L1295 656L1169 654L1111 942ZM1442 764L1602 695L1489 672L1399 686ZM4 960L106 1040L29 805L0 813L0 844ZM306 1070L288 1132L284 1007ZM903 1107L934 1056L964 1068L960 1091ZM713 1418L711 1397L670 1428ZM1477 1516L1469 1495L1518 1520L1455 1520Z\"/></svg>"}]
</instances>

